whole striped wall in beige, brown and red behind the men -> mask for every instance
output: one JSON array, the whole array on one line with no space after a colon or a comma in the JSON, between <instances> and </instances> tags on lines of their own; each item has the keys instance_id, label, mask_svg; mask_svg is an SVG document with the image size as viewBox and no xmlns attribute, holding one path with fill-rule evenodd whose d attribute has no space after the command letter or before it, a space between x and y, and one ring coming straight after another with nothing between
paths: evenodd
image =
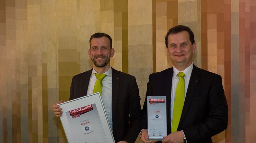
<instances>
[{"instance_id":1,"label":"whole striped wall in beige, brown and red behind the men","mask_svg":"<svg viewBox=\"0 0 256 143\"><path fill-rule=\"evenodd\" d=\"M111 65L136 76L143 103L149 74L172 66L164 37L178 24L195 33L195 65L223 78L229 125L213 142L256 142L255 0L0 0L0 142L67 142L51 106L92 68L95 32L113 38Z\"/></svg>"}]
</instances>

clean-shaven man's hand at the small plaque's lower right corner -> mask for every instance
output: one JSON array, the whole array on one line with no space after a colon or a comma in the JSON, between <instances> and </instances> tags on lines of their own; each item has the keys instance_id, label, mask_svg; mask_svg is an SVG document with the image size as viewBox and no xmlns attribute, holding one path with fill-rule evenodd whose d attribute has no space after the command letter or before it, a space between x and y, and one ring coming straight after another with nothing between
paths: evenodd
<instances>
[{"instance_id":1,"label":"clean-shaven man's hand at the small plaque's lower right corner","mask_svg":"<svg viewBox=\"0 0 256 143\"><path fill-rule=\"evenodd\" d=\"M184 134L182 131L173 132L162 140L162 143L183 143Z\"/></svg>"}]
</instances>

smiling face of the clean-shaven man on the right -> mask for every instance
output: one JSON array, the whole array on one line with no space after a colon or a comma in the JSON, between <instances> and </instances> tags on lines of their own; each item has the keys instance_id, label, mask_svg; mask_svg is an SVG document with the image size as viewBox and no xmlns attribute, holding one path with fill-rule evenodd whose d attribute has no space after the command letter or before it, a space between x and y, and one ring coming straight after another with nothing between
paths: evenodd
<instances>
[{"instance_id":1,"label":"smiling face of the clean-shaven man on the right","mask_svg":"<svg viewBox=\"0 0 256 143\"><path fill-rule=\"evenodd\" d=\"M168 35L167 53L173 66L179 71L183 71L191 65L195 49L196 43L191 44L187 31Z\"/></svg>"}]
</instances>

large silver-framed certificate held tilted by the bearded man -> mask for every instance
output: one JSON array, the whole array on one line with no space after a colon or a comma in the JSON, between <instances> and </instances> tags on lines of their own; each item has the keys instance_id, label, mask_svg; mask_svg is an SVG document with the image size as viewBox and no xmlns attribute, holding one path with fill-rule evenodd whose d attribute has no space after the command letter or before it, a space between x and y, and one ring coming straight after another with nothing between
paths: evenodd
<instances>
[{"instance_id":1,"label":"large silver-framed certificate held tilted by the bearded man","mask_svg":"<svg viewBox=\"0 0 256 143\"><path fill-rule=\"evenodd\" d=\"M115 143L99 92L58 105L69 143Z\"/></svg>"}]
</instances>

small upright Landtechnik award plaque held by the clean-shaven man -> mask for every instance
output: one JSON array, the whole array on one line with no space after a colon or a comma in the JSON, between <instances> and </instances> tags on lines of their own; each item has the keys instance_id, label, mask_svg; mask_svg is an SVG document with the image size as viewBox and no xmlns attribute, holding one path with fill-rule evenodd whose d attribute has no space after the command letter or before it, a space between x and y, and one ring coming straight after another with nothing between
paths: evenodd
<instances>
[{"instance_id":1,"label":"small upright Landtechnik award plaque held by the clean-shaven man","mask_svg":"<svg viewBox=\"0 0 256 143\"><path fill-rule=\"evenodd\" d=\"M163 140L166 136L166 96L148 96L149 140Z\"/></svg>"}]
</instances>

